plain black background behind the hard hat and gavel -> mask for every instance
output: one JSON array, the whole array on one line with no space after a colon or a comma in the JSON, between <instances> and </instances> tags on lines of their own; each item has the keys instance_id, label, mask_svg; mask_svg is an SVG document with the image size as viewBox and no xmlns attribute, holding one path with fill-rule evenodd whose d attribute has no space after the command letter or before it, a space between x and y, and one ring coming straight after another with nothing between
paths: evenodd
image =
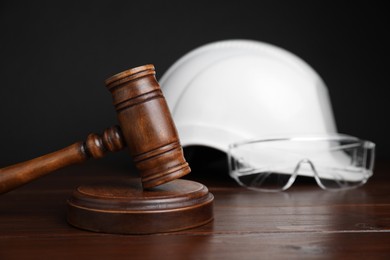
<instances>
[{"instance_id":1,"label":"plain black background behind the hard hat and gavel","mask_svg":"<svg viewBox=\"0 0 390 260\"><path fill-rule=\"evenodd\" d=\"M104 80L225 39L259 40L310 64L338 131L390 159L389 22L379 1L0 1L0 165L116 124ZM126 153L106 161L126 163Z\"/></svg>"}]
</instances>

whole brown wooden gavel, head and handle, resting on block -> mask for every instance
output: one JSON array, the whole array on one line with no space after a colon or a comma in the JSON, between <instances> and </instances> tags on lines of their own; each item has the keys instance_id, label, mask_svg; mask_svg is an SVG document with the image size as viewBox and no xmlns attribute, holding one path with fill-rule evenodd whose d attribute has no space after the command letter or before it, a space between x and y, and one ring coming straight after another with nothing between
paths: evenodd
<instances>
[{"instance_id":1,"label":"whole brown wooden gavel, head and handle, resting on block","mask_svg":"<svg viewBox=\"0 0 390 260\"><path fill-rule=\"evenodd\" d=\"M129 148L142 187L152 188L188 174L178 133L155 78L153 65L118 73L106 81L119 126L89 134L62 150L0 169L0 194L62 167L101 158L107 151Z\"/></svg>"}]
</instances>

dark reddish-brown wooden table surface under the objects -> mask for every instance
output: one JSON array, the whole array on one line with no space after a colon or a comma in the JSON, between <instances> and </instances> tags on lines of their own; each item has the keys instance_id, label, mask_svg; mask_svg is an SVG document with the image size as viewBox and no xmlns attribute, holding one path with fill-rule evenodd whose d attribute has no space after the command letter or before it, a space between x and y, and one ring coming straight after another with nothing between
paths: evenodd
<instances>
[{"instance_id":1,"label":"dark reddish-brown wooden table surface under the objects","mask_svg":"<svg viewBox=\"0 0 390 260\"><path fill-rule=\"evenodd\" d=\"M259 193L226 174L193 172L215 196L215 219L192 230L112 235L67 224L74 188L128 176L91 161L1 195L0 259L390 259L389 163L342 192L297 180L287 192Z\"/></svg>"}]
</instances>

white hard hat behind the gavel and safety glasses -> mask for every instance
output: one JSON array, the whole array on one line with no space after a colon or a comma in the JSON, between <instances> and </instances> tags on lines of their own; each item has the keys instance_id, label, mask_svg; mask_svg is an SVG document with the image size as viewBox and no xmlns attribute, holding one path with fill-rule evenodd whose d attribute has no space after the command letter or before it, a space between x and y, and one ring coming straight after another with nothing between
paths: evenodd
<instances>
[{"instance_id":1,"label":"white hard hat behind the gavel and safety glasses","mask_svg":"<svg viewBox=\"0 0 390 260\"><path fill-rule=\"evenodd\" d=\"M337 132L320 76L271 44L206 44L176 61L159 82L183 147L227 152L242 140Z\"/></svg>"}]
</instances>

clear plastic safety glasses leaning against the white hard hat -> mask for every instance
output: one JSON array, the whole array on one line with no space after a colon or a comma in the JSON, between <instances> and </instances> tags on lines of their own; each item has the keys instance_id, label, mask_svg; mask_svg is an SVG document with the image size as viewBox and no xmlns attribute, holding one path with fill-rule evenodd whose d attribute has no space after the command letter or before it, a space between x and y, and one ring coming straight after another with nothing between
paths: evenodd
<instances>
[{"instance_id":1,"label":"clear plastic safety glasses leaning against the white hard hat","mask_svg":"<svg viewBox=\"0 0 390 260\"><path fill-rule=\"evenodd\" d=\"M355 188L373 174L375 144L348 135L254 140L229 146L229 172L241 186L283 191L298 175L325 190Z\"/></svg>"}]
</instances>

